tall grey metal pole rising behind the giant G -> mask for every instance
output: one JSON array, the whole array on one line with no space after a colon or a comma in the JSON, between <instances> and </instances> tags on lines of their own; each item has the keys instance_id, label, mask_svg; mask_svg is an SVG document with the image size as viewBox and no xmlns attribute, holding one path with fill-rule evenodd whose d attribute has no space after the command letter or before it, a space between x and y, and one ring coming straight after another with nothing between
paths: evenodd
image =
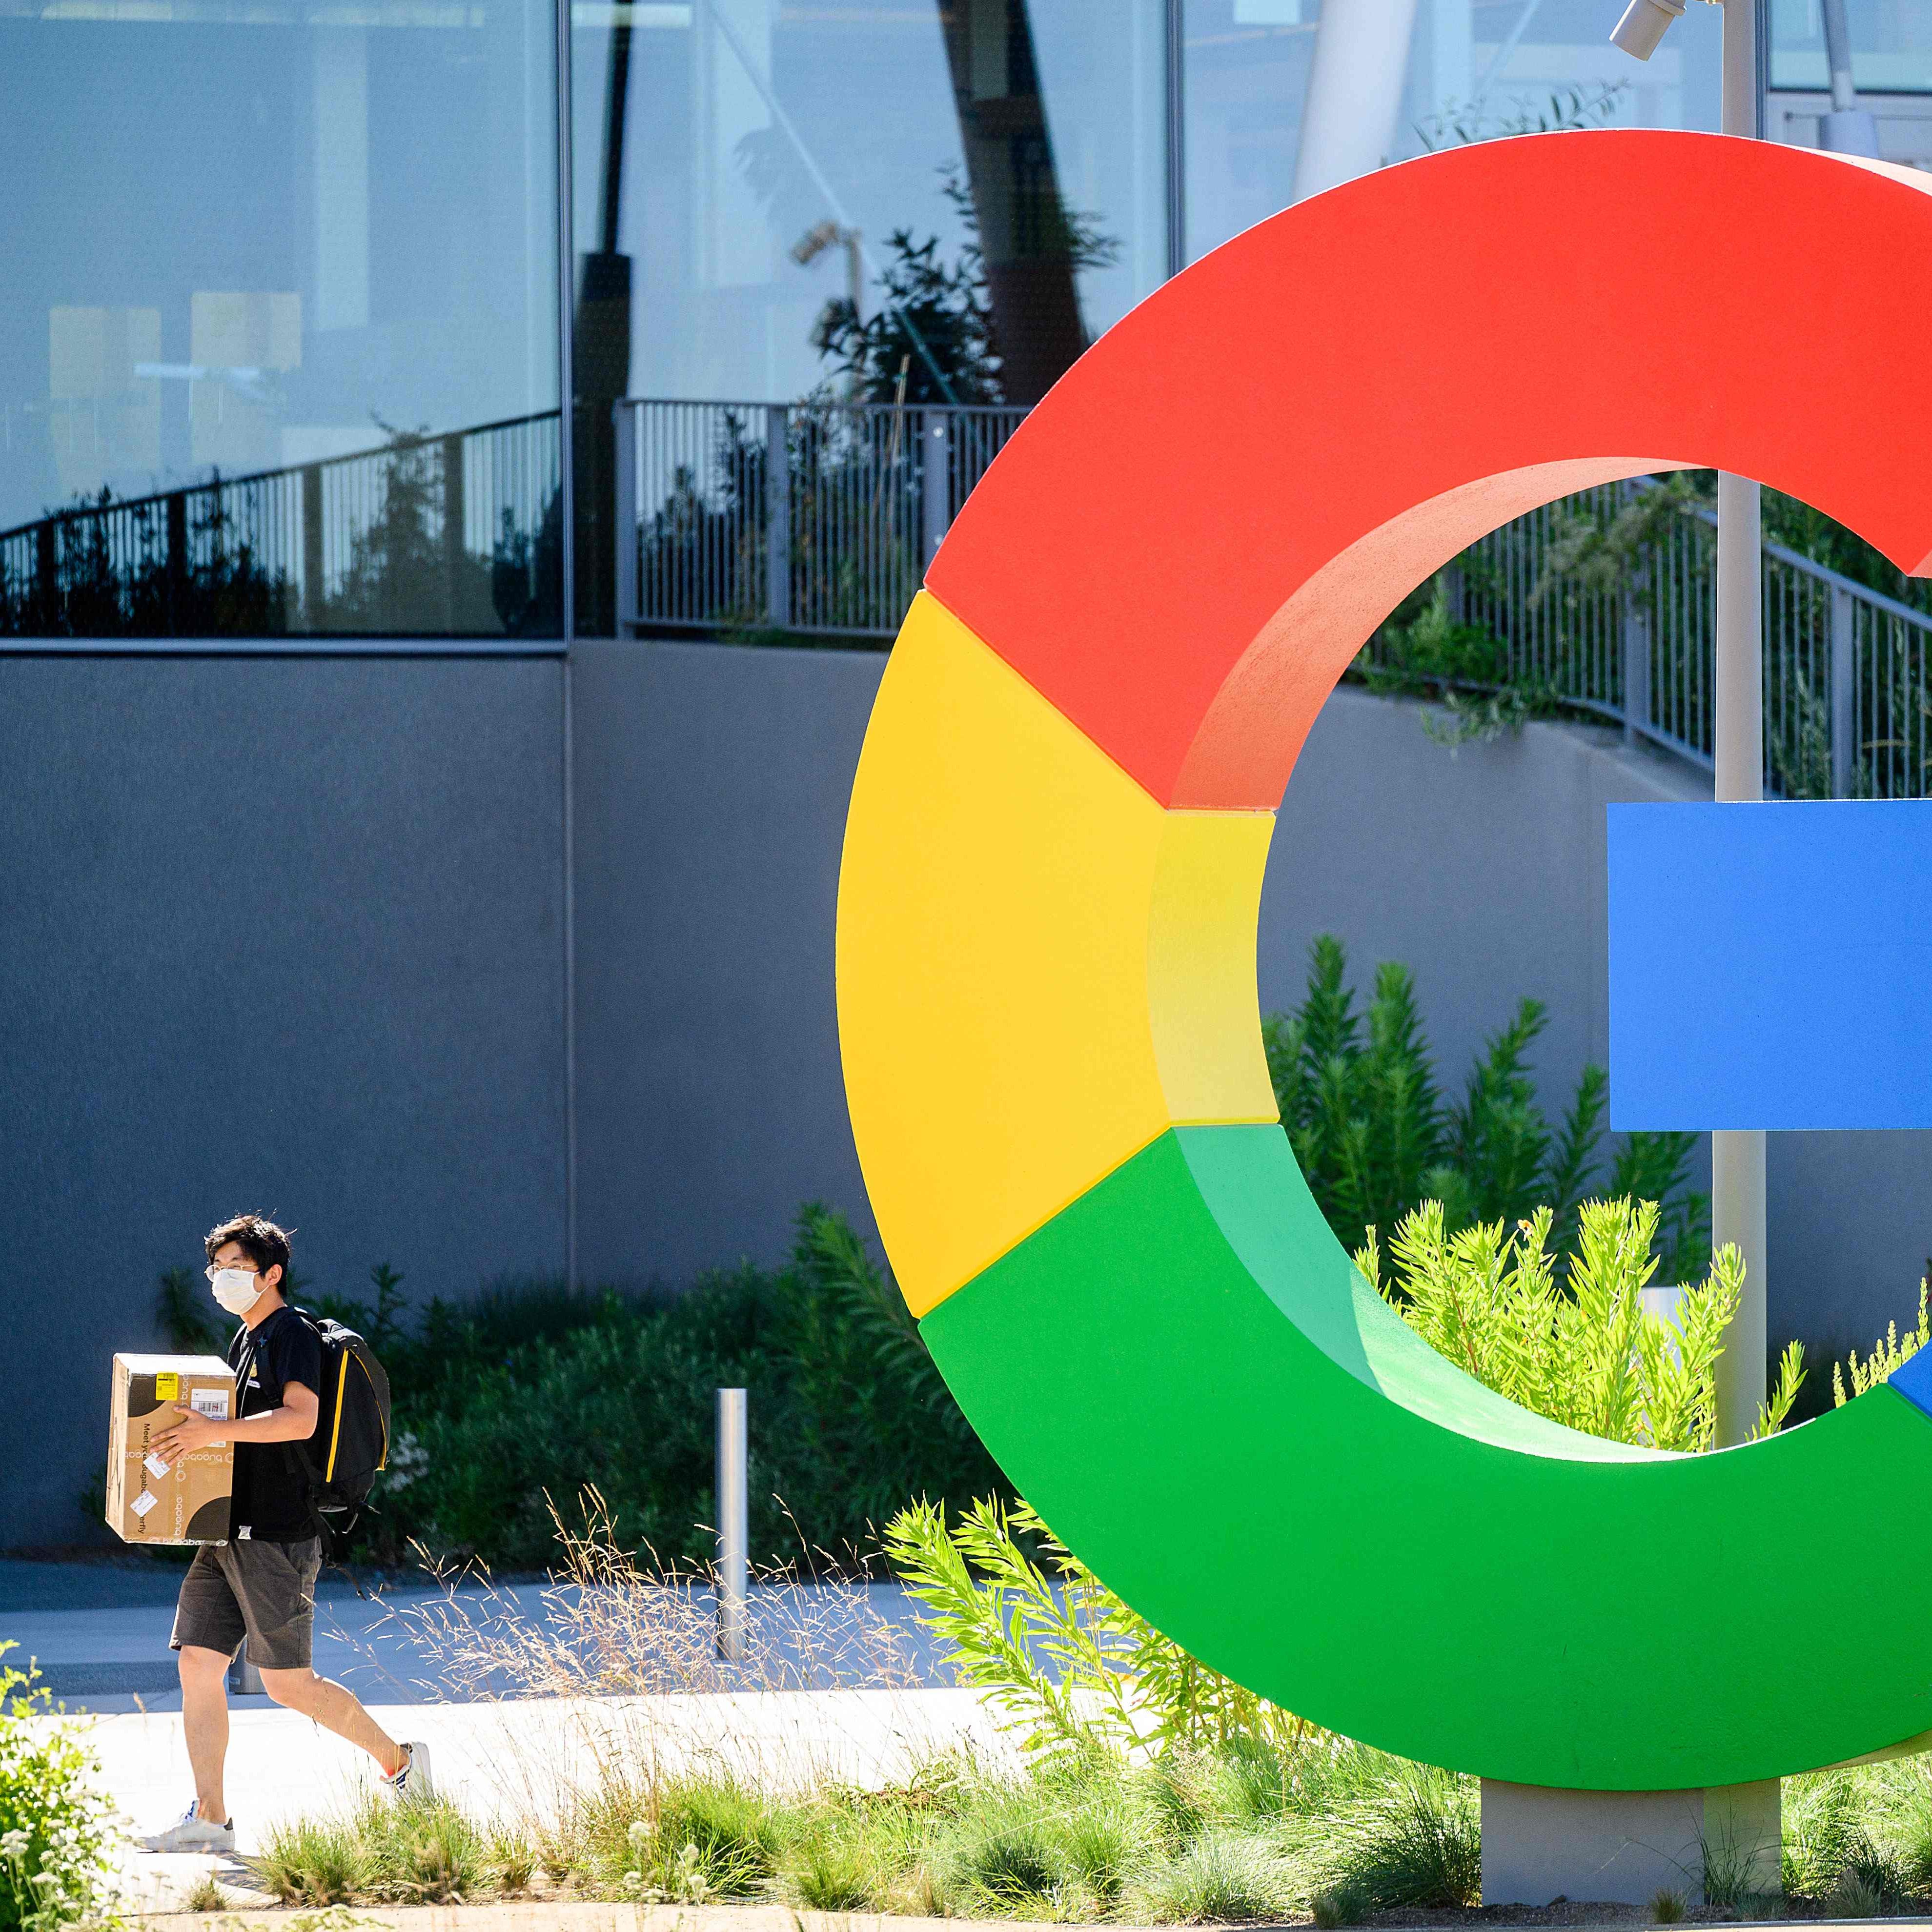
<instances>
[{"instance_id":1,"label":"tall grey metal pole rising behind the giant G","mask_svg":"<svg viewBox=\"0 0 1932 1932\"><path fill-rule=\"evenodd\" d=\"M1723 0L1723 131L1758 133L1758 0ZM1764 531L1758 485L1718 477L1719 802L1764 798ZM1745 1256L1745 1296L1718 1358L1718 1441L1741 1443L1766 1395L1764 1134L1710 1136L1712 1238Z\"/></svg>"}]
</instances>

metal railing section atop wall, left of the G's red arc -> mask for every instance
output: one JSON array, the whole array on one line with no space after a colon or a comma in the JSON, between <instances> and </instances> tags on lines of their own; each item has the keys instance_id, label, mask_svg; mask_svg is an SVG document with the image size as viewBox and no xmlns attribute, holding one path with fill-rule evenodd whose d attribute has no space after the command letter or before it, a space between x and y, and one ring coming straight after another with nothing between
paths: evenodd
<instances>
[{"instance_id":1,"label":"metal railing section atop wall, left of the G's red arc","mask_svg":"<svg viewBox=\"0 0 1932 1932\"><path fill-rule=\"evenodd\" d=\"M1024 417L1020 406L618 402L620 630L893 638Z\"/></svg>"}]
</instances>

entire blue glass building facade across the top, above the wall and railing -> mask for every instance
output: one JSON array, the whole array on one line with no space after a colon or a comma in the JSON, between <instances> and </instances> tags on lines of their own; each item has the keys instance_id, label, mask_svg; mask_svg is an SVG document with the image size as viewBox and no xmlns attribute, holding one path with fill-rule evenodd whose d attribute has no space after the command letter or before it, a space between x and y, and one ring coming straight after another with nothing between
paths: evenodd
<instances>
[{"instance_id":1,"label":"entire blue glass building facade across the top, above the wall and railing","mask_svg":"<svg viewBox=\"0 0 1932 1932\"><path fill-rule=\"evenodd\" d=\"M1615 12L1414 0L1383 158L1714 128L1718 10L1642 68ZM1851 0L1901 158L1928 15ZM1768 131L1814 139L1816 0L1768 27ZM775 404L1010 415L1294 199L1320 31L1320 0L0 0L0 634L609 636L651 510L622 398L738 406L753 456Z\"/></svg>"}]
</instances>

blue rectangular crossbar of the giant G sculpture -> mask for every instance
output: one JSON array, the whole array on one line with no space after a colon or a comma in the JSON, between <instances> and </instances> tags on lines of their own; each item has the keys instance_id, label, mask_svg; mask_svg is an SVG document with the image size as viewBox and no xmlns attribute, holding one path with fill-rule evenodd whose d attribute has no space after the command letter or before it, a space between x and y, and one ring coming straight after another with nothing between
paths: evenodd
<instances>
[{"instance_id":1,"label":"blue rectangular crossbar of the giant G sculpture","mask_svg":"<svg viewBox=\"0 0 1932 1932\"><path fill-rule=\"evenodd\" d=\"M1609 808L1609 1124L1932 1126L1932 800Z\"/></svg>"}]
</instances>

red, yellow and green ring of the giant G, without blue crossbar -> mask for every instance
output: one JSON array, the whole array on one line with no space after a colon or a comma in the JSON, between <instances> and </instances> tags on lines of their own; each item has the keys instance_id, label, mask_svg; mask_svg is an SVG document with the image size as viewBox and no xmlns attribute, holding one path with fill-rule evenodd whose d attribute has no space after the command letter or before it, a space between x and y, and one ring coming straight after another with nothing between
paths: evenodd
<instances>
[{"instance_id":1,"label":"red, yellow and green ring of the giant G, without blue crossbar","mask_svg":"<svg viewBox=\"0 0 1932 1932\"><path fill-rule=\"evenodd\" d=\"M1874 1534L1857 1507L1932 1495L1917 1401L1886 1387L1673 1457L1482 1389L1316 1211L1254 980L1273 810L1316 711L1484 531L1712 466L1928 568L1928 189L1619 131L1308 201L1082 357L974 493L887 667L838 1022L904 1294L1070 1548L1208 1663L1350 1737L1673 1789L1932 1727L1932 1671L1909 1667L1932 1536Z\"/></svg>"}]
</instances>

